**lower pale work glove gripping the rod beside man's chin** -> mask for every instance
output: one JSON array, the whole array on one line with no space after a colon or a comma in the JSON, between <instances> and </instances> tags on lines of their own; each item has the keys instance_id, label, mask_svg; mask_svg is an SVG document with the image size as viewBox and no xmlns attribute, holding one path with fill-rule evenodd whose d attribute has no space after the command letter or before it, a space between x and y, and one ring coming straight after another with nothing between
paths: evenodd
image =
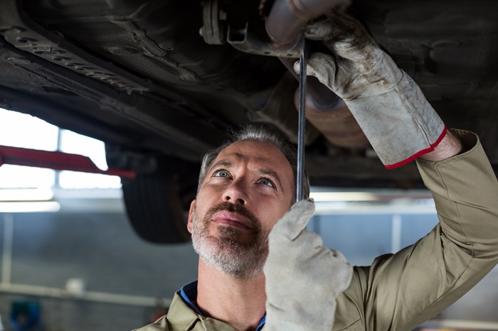
<instances>
[{"instance_id":1,"label":"lower pale work glove gripping the rod beside man's chin","mask_svg":"<svg viewBox=\"0 0 498 331\"><path fill-rule=\"evenodd\" d=\"M353 268L344 256L306 229L313 212L314 203L301 200L270 232L263 268L267 331L332 330L336 297L351 282Z\"/></svg>"}]
</instances>

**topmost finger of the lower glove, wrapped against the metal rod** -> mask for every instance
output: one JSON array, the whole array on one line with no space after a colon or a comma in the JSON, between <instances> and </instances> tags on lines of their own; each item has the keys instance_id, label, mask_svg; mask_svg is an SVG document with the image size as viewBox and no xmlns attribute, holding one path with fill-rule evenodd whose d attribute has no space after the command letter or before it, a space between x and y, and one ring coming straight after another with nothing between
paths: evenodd
<instances>
[{"instance_id":1,"label":"topmost finger of the lower glove, wrapped against the metal rod","mask_svg":"<svg viewBox=\"0 0 498 331\"><path fill-rule=\"evenodd\" d=\"M269 240L285 237L295 240L306 227L314 213L314 202L309 199L296 202L285 215L279 219L270 232Z\"/></svg>"}]
</instances>

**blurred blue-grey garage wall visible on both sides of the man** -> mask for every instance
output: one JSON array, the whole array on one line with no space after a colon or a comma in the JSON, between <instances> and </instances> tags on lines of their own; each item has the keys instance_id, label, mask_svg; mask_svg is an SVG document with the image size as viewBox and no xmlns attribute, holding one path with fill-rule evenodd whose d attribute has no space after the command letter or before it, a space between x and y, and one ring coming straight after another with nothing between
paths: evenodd
<instances>
[{"instance_id":1,"label":"blurred blue-grey garage wall visible on both sides of the man","mask_svg":"<svg viewBox=\"0 0 498 331\"><path fill-rule=\"evenodd\" d=\"M144 242L122 211L95 212L85 207L78 212L0 214L0 246L5 244L6 222L14 224L11 283L61 289L69 278L80 278L86 291L150 299L150 304L133 305L1 293L0 315L6 330L11 302L18 300L41 303L47 331L132 330L152 318L154 298L169 299L196 278L197 256L191 244ZM309 228L322 234L324 244L341 250L352 264L368 265L380 254L412 244L436 223L432 214L337 214L317 215ZM0 272L5 276L4 262ZM497 321L497 288L498 275L493 271L449 308L445 317Z\"/></svg>"}]
</instances>

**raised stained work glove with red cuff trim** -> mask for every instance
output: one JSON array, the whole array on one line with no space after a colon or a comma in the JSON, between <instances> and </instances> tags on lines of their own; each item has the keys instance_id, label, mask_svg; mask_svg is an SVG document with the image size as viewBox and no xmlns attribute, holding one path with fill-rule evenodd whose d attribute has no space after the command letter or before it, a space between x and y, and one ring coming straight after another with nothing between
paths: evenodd
<instances>
[{"instance_id":1,"label":"raised stained work glove with red cuff trim","mask_svg":"<svg viewBox=\"0 0 498 331\"><path fill-rule=\"evenodd\" d=\"M420 88L358 21L338 11L327 17L306 38L321 40L333 55L312 53L307 75L344 99L386 168L433 151L446 126ZM294 68L299 72L299 61Z\"/></svg>"}]
</instances>

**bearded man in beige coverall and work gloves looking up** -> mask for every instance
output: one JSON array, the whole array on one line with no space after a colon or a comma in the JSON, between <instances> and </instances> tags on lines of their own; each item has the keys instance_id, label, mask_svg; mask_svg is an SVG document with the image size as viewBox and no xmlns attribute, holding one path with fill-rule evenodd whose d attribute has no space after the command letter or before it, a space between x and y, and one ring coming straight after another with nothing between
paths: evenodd
<instances>
[{"instance_id":1,"label":"bearded man in beige coverall and work gloves looking up","mask_svg":"<svg viewBox=\"0 0 498 331\"><path fill-rule=\"evenodd\" d=\"M386 167L417 160L440 224L352 270L304 229L314 209L294 204L290 148L250 128L203 160L188 224L198 281L140 330L412 330L497 264L498 183L477 137L447 131L359 23L329 18L307 37L333 55L312 54L309 74L344 99Z\"/></svg>"}]
</instances>

